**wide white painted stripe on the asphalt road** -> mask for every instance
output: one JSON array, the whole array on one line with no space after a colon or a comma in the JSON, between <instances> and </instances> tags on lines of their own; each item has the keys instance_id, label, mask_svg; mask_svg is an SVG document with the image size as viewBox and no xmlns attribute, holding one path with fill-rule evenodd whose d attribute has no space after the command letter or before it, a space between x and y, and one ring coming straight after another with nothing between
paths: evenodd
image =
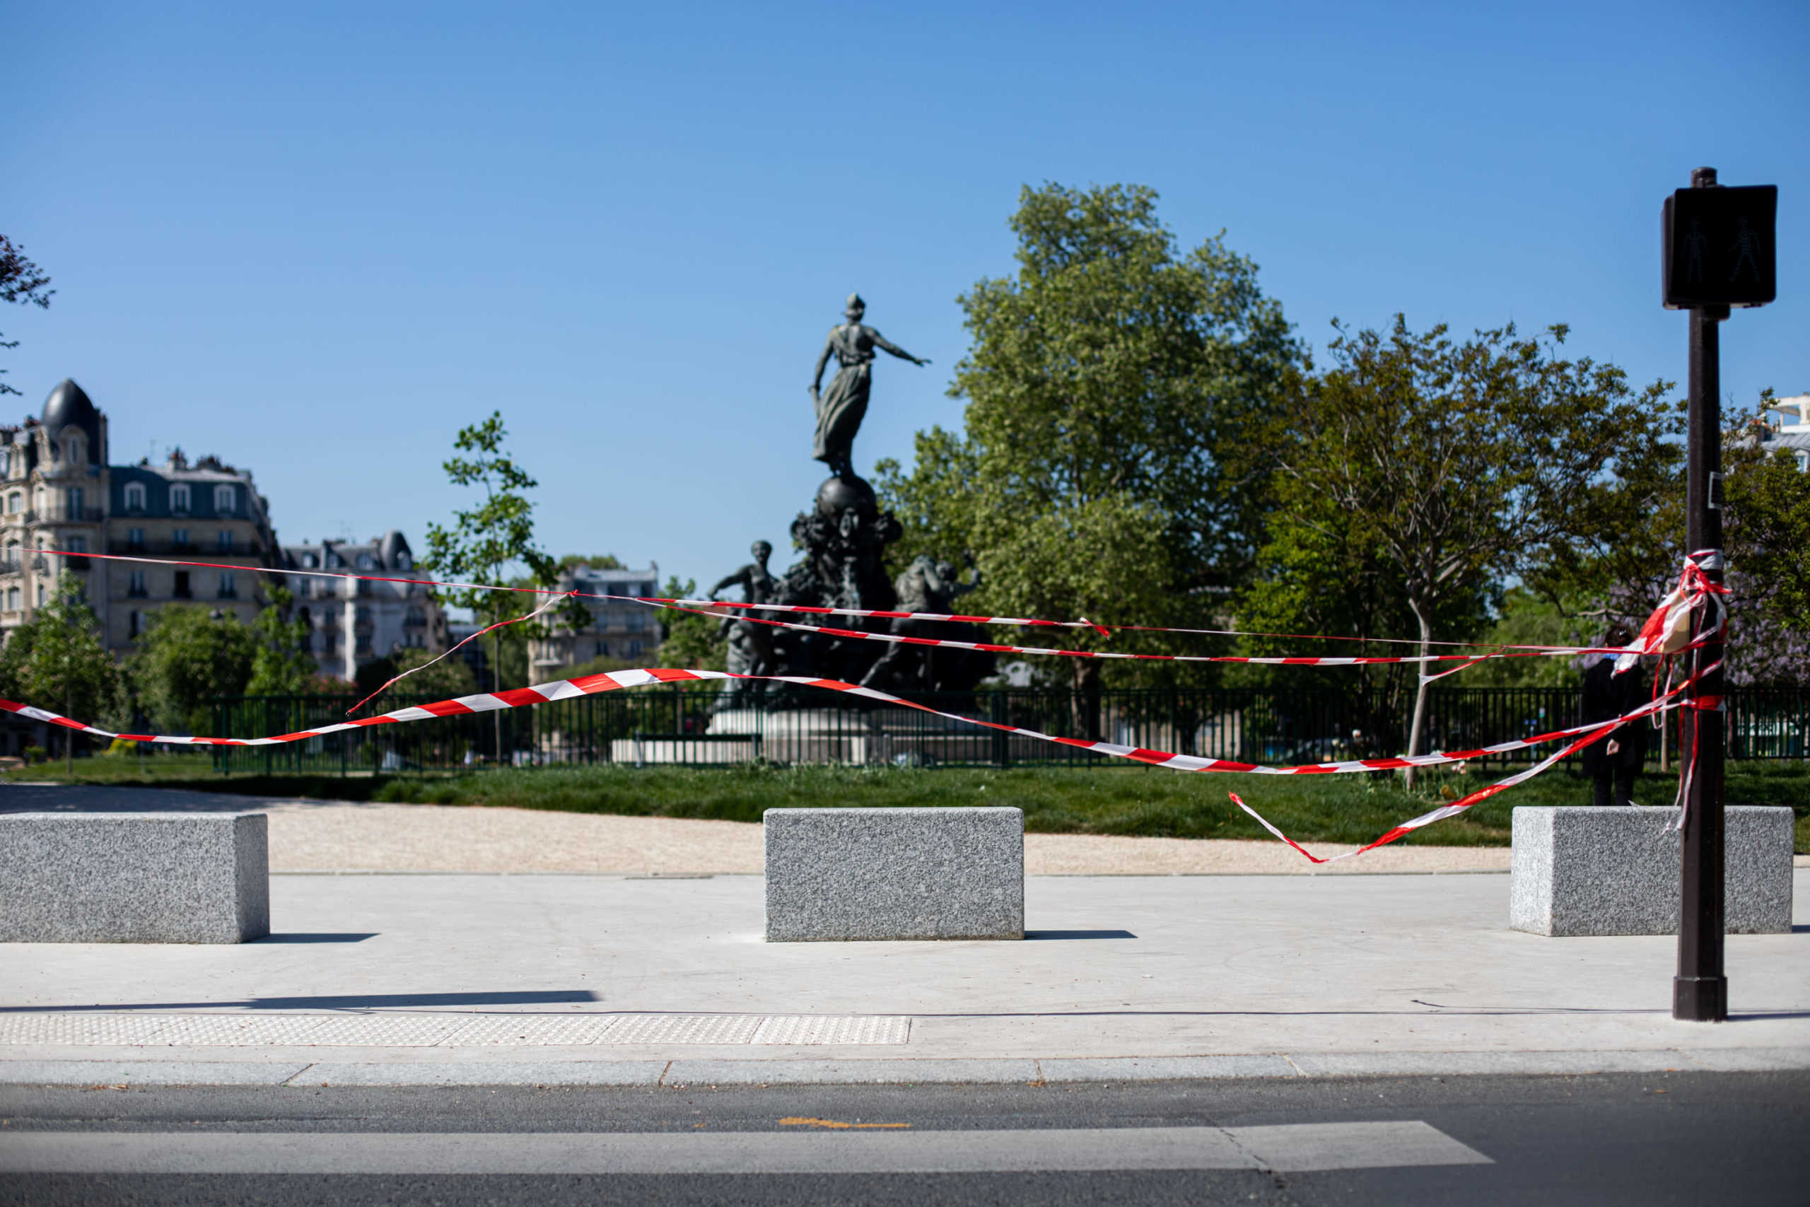
<instances>
[{"instance_id":1,"label":"wide white painted stripe on the asphalt road","mask_svg":"<svg viewBox=\"0 0 1810 1207\"><path fill-rule=\"evenodd\" d=\"M0 1173L793 1174L1486 1165L1421 1120L1272 1127L728 1133L0 1135Z\"/></svg>"}]
</instances>

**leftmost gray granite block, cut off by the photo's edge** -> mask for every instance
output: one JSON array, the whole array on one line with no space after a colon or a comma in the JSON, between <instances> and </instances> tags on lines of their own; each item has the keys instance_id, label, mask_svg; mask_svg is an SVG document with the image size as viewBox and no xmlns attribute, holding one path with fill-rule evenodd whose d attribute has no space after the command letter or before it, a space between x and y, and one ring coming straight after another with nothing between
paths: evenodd
<instances>
[{"instance_id":1,"label":"leftmost gray granite block, cut off by the photo's edge","mask_svg":"<svg viewBox=\"0 0 1810 1207\"><path fill-rule=\"evenodd\" d=\"M262 813L0 814L0 943L270 934Z\"/></svg>"}]
</instances>

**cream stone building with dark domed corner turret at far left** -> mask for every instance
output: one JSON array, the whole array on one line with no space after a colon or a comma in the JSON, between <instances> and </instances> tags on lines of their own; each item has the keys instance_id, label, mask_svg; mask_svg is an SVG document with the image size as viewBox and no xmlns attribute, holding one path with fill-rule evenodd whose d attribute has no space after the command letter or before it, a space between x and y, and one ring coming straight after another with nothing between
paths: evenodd
<instances>
[{"instance_id":1,"label":"cream stone building with dark domed corner turret at far left","mask_svg":"<svg viewBox=\"0 0 1810 1207\"><path fill-rule=\"evenodd\" d=\"M279 552L252 472L215 456L190 463L181 449L163 465L109 465L107 414L72 380L51 391L40 416L0 427L0 633L58 592L78 592L121 657L165 604L205 604L244 623L264 606L257 570L275 566Z\"/></svg>"}]
</instances>

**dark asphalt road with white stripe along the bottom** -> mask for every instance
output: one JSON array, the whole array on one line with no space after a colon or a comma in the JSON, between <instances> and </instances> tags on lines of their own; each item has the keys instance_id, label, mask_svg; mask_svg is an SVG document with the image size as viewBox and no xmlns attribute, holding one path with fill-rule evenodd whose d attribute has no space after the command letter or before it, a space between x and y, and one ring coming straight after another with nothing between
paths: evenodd
<instances>
[{"instance_id":1,"label":"dark asphalt road with white stripe along the bottom","mask_svg":"<svg viewBox=\"0 0 1810 1207\"><path fill-rule=\"evenodd\" d=\"M0 1203L1805 1203L1810 1073L0 1086Z\"/></svg>"}]
</instances>

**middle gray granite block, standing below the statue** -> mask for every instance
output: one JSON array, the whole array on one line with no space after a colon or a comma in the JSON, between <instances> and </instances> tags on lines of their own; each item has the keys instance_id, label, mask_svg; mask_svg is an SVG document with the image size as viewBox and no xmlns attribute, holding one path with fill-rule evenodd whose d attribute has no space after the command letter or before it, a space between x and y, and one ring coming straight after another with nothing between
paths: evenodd
<instances>
[{"instance_id":1,"label":"middle gray granite block, standing below the statue","mask_svg":"<svg viewBox=\"0 0 1810 1207\"><path fill-rule=\"evenodd\" d=\"M1019 809L767 809L767 941L1023 939Z\"/></svg>"}]
</instances>

